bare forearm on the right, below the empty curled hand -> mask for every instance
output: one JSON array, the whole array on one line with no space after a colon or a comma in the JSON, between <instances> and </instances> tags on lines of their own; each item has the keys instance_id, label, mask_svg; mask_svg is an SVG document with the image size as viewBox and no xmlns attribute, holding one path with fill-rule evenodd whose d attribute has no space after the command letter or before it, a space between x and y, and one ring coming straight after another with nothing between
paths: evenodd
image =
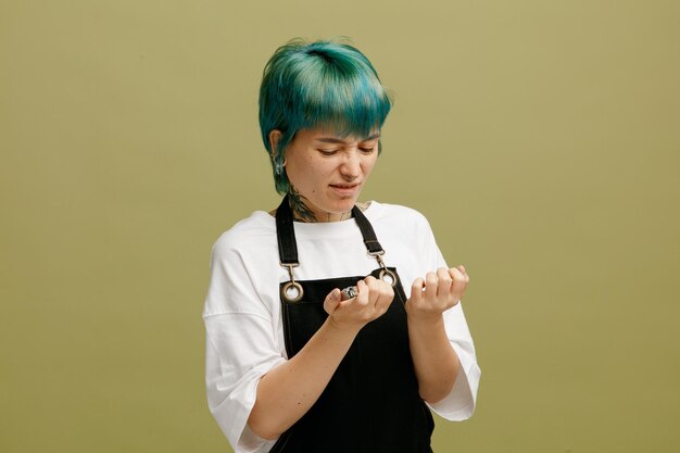
<instances>
[{"instance_id":1,"label":"bare forearm on the right, below the empty curled hand","mask_svg":"<svg viewBox=\"0 0 680 453\"><path fill-rule=\"evenodd\" d=\"M408 340L420 398L437 403L451 392L461 367L446 337L443 316L421 322L410 318Z\"/></svg>"}]
</instances>

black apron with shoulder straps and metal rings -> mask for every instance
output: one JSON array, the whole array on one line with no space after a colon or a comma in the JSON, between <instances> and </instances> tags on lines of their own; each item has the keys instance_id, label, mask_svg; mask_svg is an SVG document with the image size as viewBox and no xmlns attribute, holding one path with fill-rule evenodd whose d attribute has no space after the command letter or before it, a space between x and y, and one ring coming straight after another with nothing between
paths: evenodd
<instances>
[{"instance_id":1,"label":"black apron with shoulder straps and metal rings","mask_svg":"<svg viewBox=\"0 0 680 453\"><path fill-rule=\"evenodd\" d=\"M370 273L394 287L394 300L354 339L338 369L310 411L281 435L270 453L431 453L432 415L418 394L404 303L396 269L386 267L385 253L368 219L352 214L368 254L380 267ZM335 288L355 286L365 275L297 281L299 265L293 216L288 197L276 212L280 263L290 281L280 285L281 317L288 356L295 355L324 324L324 300ZM329 256L329 259L332 259Z\"/></svg>"}]
</instances>

